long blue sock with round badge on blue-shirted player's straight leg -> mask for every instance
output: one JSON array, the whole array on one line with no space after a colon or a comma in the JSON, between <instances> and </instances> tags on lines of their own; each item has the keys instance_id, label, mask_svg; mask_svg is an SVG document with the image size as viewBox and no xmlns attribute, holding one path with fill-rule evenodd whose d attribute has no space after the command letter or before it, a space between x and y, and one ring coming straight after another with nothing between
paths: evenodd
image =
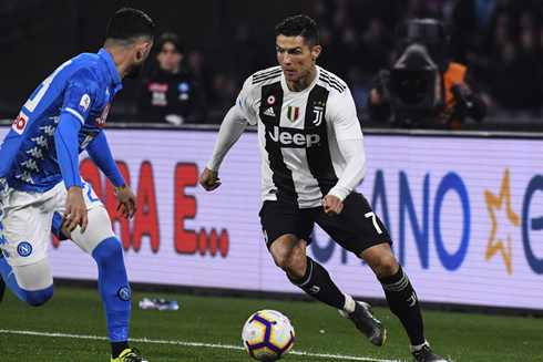
<instances>
[{"instance_id":1,"label":"long blue sock with round badge on blue-shirted player's straight leg","mask_svg":"<svg viewBox=\"0 0 543 362\"><path fill-rule=\"evenodd\" d=\"M121 241L111 237L92 251L98 263L100 297L104 302L105 322L111 342L129 340L132 289L124 267Z\"/></svg>"}]
</instances>

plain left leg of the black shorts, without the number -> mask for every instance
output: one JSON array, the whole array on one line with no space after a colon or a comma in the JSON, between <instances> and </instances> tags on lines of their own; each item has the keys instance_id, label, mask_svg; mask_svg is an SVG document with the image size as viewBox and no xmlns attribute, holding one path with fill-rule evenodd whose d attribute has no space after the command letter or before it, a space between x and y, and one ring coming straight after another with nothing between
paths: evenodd
<instances>
[{"instance_id":1,"label":"plain left leg of the black shorts, without the number","mask_svg":"<svg viewBox=\"0 0 543 362\"><path fill-rule=\"evenodd\" d=\"M279 201L265 201L258 215L268 249L275 240L288 234L311 242L314 223L303 210Z\"/></svg>"}]
</instances>

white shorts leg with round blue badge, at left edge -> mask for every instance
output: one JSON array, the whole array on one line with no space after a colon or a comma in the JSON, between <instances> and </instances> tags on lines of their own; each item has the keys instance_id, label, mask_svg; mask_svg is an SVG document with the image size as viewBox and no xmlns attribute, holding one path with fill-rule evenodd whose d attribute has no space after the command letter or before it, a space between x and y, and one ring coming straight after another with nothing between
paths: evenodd
<instances>
[{"instance_id":1,"label":"white shorts leg with round blue badge, at left edge","mask_svg":"<svg viewBox=\"0 0 543 362\"><path fill-rule=\"evenodd\" d=\"M25 266L47 257L55 199L62 192L45 193L7 188L1 195L0 248L10 266Z\"/></svg>"}]
</instances>

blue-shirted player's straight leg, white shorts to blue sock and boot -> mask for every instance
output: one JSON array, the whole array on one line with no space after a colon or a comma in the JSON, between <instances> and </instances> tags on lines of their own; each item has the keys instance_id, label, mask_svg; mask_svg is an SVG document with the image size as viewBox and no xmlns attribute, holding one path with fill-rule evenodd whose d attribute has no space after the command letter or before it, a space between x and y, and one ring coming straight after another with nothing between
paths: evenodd
<instances>
[{"instance_id":1,"label":"blue-shirted player's straight leg, white shorts to blue sock and boot","mask_svg":"<svg viewBox=\"0 0 543 362\"><path fill-rule=\"evenodd\" d=\"M107 211L100 199L84 183L83 194L88 206L89 225L84 234L78 226L69 236L61 225L65 200L58 204L53 230L59 237L69 237L96 261L99 292L104 303L105 321L111 342L112 361L143 361L135 349L129 347L129 324L132 289L129 286L121 241L114 235Z\"/></svg>"}]
</instances>

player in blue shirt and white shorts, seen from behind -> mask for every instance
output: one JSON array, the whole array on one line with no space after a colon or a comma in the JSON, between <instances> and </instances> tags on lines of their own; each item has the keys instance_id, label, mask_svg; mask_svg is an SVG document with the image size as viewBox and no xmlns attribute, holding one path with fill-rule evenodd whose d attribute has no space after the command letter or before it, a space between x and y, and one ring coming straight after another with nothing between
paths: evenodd
<instances>
[{"instance_id":1,"label":"player in blue shirt and white shorts, seen from behind","mask_svg":"<svg viewBox=\"0 0 543 362\"><path fill-rule=\"evenodd\" d=\"M127 342L132 290L123 248L104 205L80 176L78 157L88 152L113 184L121 216L133 217L136 196L102 128L122 79L140 74L154 33L142 11L115 12L104 48L80 54L49 75L24 103L0 149L0 294L7 285L31 306L45 303L54 289L50 234L72 239L98 265L112 362L144 360Z\"/></svg>"}]
</instances>

